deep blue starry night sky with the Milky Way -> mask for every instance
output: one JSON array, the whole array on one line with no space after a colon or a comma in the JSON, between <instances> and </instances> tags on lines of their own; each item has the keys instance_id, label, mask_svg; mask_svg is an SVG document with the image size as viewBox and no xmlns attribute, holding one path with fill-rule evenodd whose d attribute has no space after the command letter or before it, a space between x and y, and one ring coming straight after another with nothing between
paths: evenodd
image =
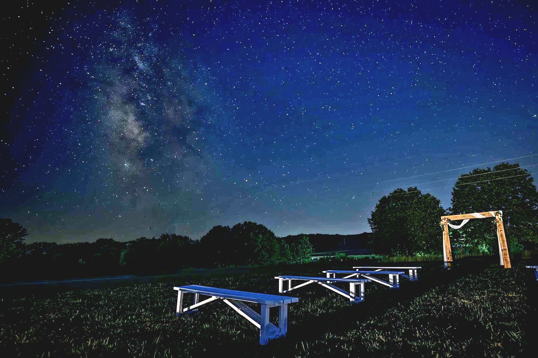
<instances>
[{"instance_id":1,"label":"deep blue starry night sky with the Milky Way","mask_svg":"<svg viewBox=\"0 0 538 358\"><path fill-rule=\"evenodd\" d=\"M538 172L530 2L41 3L2 14L0 217L26 242L356 234L398 187L447 209L473 168Z\"/></svg>"}]
</instances>

